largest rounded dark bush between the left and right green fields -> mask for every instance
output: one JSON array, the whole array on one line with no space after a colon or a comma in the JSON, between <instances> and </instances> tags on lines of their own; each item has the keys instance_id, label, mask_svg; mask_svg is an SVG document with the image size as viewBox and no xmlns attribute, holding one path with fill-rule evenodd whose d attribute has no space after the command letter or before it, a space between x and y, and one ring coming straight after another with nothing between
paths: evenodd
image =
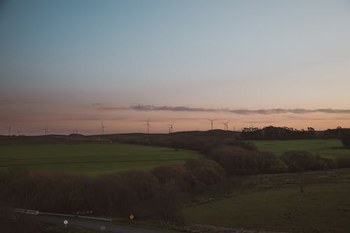
<instances>
[{"instance_id":1,"label":"largest rounded dark bush between the left and right green fields","mask_svg":"<svg viewBox=\"0 0 350 233\"><path fill-rule=\"evenodd\" d=\"M269 174L286 171L286 164L272 153L222 146L211 150L210 158L230 175Z\"/></svg>"}]
</instances>

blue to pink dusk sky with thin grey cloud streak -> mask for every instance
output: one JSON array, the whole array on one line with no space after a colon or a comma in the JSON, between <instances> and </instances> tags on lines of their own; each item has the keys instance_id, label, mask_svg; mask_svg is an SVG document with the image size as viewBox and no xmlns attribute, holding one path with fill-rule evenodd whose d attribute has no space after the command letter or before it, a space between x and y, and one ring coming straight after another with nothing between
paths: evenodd
<instances>
[{"instance_id":1,"label":"blue to pink dusk sky with thin grey cloud streak","mask_svg":"<svg viewBox=\"0 0 350 233\"><path fill-rule=\"evenodd\" d=\"M350 1L0 1L0 134L350 127Z\"/></svg>"}]
</instances>

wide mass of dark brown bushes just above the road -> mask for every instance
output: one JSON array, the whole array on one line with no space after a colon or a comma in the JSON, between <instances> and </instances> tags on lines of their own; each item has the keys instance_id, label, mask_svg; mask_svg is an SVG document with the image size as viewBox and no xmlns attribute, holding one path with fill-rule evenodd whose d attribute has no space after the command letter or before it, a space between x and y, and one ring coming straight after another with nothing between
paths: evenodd
<instances>
[{"instance_id":1,"label":"wide mass of dark brown bushes just above the road","mask_svg":"<svg viewBox=\"0 0 350 233\"><path fill-rule=\"evenodd\" d=\"M0 174L0 186L0 206L182 223L179 193L149 171L98 178L16 171Z\"/></svg>"}]
</instances>

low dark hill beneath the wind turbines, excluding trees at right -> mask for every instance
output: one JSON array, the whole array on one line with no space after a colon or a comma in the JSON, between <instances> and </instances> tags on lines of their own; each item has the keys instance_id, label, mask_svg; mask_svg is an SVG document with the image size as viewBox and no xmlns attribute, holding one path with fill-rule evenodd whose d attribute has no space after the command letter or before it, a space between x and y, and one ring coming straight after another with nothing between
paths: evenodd
<instances>
[{"instance_id":1,"label":"low dark hill beneath the wind turbines, excluding trees at right","mask_svg":"<svg viewBox=\"0 0 350 233\"><path fill-rule=\"evenodd\" d=\"M204 151L209 147L233 141L240 132L223 131L220 129L209 131L174 132L172 134L104 134L88 135L41 135L41 136L0 136L0 144L28 144L28 143L130 143L148 146L169 146L189 150Z\"/></svg>"}]
</instances>

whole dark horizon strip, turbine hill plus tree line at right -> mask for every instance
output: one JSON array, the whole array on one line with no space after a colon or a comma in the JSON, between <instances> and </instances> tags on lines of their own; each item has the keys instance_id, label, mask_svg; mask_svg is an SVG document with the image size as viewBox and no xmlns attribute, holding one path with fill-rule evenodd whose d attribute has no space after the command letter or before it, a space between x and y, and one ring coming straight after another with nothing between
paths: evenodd
<instances>
[{"instance_id":1,"label":"whole dark horizon strip, turbine hill plus tree line at right","mask_svg":"<svg viewBox=\"0 0 350 233\"><path fill-rule=\"evenodd\" d=\"M130 143L148 146L169 146L189 150L206 151L207 148L230 143L237 139L243 140L290 140L290 139L340 139L350 134L350 129L337 128L325 131L297 130L289 127L268 126L259 128L244 128L242 132L214 129L209 131L186 131L172 134L104 134L104 135L41 135L41 136L0 136L1 144L27 143Z\"/></svg>"}]
</instances>

